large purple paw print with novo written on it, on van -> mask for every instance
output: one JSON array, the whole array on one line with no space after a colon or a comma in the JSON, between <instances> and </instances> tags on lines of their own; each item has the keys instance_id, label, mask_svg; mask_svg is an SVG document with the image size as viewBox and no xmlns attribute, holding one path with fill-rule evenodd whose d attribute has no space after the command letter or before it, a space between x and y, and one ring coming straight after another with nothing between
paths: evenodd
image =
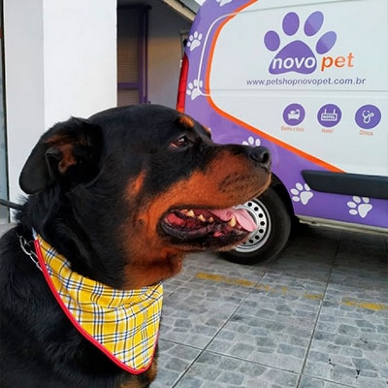
<instances>
[{"instance_id":1,"label":"large purple paw print with novo written on it, on van","mask_svg":"<svg viewBox=\"0 0 388 388\"><path fill-rule=\"evenodd\" d=\"M295 12L288 12L283 18L283 33L288 37L294 36L299 30L299 16ZM324 15L320 11L312 12L306 19L303 26L303 33L306 38L313 37L324 24ZM314 51L317 54L326 54L333 48L337 35L328 31L319 37L315 44ZM278 51L281 46L281 38L274 30L267 31L264 36L265 47L270 51ZM296 73L310 74L317 69L317 58L310 46L300 39L294 39L286 44L276 53L270 63L270 73L282 74L290 71Z\"/></svg>"}]
</instances>

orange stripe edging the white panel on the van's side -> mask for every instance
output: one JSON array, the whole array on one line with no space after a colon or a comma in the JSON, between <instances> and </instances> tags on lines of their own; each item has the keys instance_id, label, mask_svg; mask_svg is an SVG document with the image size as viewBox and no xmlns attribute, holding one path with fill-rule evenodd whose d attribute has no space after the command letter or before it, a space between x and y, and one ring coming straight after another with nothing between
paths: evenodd
<instances>
[{"instance_id":1,"label":"orange stripe edging the white panel on the van's side","mask_svg":"<svg viewBox=\"0 0 388 388\"><path fill-rule=\"evenodd\" d=\"M308 161L311 161L312 163L318 164L319 166L326 168L326 170L330 170L330 171L333 171L335 173L344 173L345 171L342 170L341 168L333 166L333 164L329 164L326 161L318 159L317 157L313 157L312 155L310 155L302 150L299 150L299 148L295 148L294 146L292 146L288 143L285 143L284 141L281 141L279 139L276 139L275 137L270 136L270 134L267 134L261 130L258 130L258 128L253 127L252 125L249 125L249 124L245 123L244 121L239 120L238 118L236 118L234 116L231 116L227 112L224 112L222 109L220 109L217 105L215 105L214 101L212 100L212 98L210 96L210 69L211 69L211 64L213 62L215 43L218 40L218 36L220 35L222 28L224 27L225 24L227 24L228 21L233 19L233 17L235 17L238 14L238 12L240 12L244 8L247 8L248 6L252 5L256 1L257 0L248 1L248 3L246 3L244 6L241 6L240 8L238 8L235 12L233 12L233 15L230 15L229 17L227 17L227 19L225 19L222 22L222 24L220 24L218 29L215 31L214 39L213 39L213 42L212 42L211 48L210 48L209 61L208 61L209 65L206 69L206 79L205 79L205 89L207 92L206 98L209 102L209 105L211 105L211 107L215 110L215 112L220 114L220 116L227 118L227 120L229 120L229 121L233 121L233 123L236 123L237 125L240 125L241 127L245 127L245 129L247 129L251 132L254 132L255 134L259 134L263 138L271 141L272 143L279 145L281 148L285 148L286 150L289 150L289 151L293 152L294 154L299 155L299 156L303 157L304 159L307 159Z\"/></svg>"}]
</instances>

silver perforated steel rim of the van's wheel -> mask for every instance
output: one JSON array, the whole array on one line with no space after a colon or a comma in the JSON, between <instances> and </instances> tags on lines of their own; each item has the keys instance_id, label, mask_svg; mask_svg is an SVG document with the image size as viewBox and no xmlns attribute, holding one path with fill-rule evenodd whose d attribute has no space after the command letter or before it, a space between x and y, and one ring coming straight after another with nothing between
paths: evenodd
<instances>
[{"instance_id":1,"label":"silver perforated steel rim of the van's wheel","mask_svg":"<svg viewBox=\"0 0 388 388\"><path fill-rule=\"evenodd\" d=\"M245 243L238 245L234 250L240 253L252 253L267 243L271 232L271 218L263 202L255 198L238 206L248 211L258 227L254 230Z\"/></svg>"}]
</instances>

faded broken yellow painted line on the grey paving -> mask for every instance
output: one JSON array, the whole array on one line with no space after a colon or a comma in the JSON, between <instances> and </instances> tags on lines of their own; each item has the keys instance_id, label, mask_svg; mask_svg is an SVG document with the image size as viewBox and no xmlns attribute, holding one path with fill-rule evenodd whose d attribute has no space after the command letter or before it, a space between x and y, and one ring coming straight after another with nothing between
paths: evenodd
<instances>
[{"instance_id":1,"label":"faded broken yellow painted line on the grey paving","mask_svg":"<svg viewBox=\"0 0 388 388\"><path fill-rule=\"evenodd\" d=\"M289 294L296 297L303 297L304 299L310 299L314 301L322 301L324 299L324 294L321 292L317 293L308 293L308 292L299 292L297 290L290 290L289 287L285 285L281 285L279 287L274 287L269 284L263 283L255 283L254 281L249 281L247 279L240 279L233 276L225 276L220 274L209 274L208 272L197 272L195 275L197 279L203 279L206 281L213 281L215 283L224 283L230 285L240 285L245 288L254 288L255 290L260 290L264 292L272 292L278 294ZM373 303L370 301L360 301L358 299L342 297L340 304L349 306L349 307L357 307L364 308L365 310L373 310L373 311L382 311L388 310L388 305L383 303Z\"/></svg>"}]
</instances>

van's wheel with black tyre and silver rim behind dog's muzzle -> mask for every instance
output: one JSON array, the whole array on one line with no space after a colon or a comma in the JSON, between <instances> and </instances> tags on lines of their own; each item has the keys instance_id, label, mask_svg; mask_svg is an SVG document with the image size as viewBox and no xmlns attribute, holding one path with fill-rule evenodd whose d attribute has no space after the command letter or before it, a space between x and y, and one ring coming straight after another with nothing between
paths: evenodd
<instances>
[{"instance_id":1,"label":"van's wheel with black tyre and silver rim behind dog's muzzle","mask_svg":"<svg viewBox=\"0 0 388 388\"><path fill-rule=\"evenodd\" d=\"M245 243L221 256L233 263L255 264L278 255L287 245L291 231L291 216L280 195L270 187L241 207L247 209L258 227Z\"/></svg>"}]
</instances>

